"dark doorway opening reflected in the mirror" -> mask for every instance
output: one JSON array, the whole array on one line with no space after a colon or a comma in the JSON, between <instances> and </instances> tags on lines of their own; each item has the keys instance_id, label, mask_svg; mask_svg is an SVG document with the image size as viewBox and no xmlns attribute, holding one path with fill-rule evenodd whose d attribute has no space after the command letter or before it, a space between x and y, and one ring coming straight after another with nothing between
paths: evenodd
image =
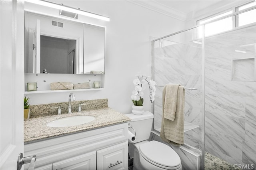
<instances>
[{"instance_id":1,"label":"dark doorway opening reflected in the mirror","mask_svg":"<svg viewBox=\"0 0 256 170\"><path fill-rule=\"evenodd\" d=\"M75 73L76 40L41 35L40 72ZM57 67L58 66L58 67Z\"/></svg>"}]
</instances>

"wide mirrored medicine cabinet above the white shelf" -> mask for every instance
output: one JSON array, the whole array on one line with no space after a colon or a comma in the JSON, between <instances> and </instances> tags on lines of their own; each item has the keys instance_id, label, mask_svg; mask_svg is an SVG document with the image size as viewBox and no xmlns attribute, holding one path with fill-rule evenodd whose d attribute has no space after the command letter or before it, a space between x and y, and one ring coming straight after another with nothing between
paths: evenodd
<instances>
[{"instance_id":1,"label":"wide mirrored medicine cabinet above the white shelf","mask_svg":"<svg viewBox=\"0 0 256 170\"><path fill-rule=\"evenodd\" d=\"M104 74L105 28L25 11L25 73Z\"/></svg>"}]
</instances>

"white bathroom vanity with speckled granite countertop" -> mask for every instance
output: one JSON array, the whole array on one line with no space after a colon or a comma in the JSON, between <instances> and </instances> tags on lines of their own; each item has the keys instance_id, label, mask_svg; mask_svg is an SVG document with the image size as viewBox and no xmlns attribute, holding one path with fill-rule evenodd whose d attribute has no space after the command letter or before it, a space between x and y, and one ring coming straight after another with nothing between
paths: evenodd
<instances>
[{"instance_id":1,"label":"white bathroom vanity with speckled granite countertop","mask_svg":"<svg viewBox=\"0 0 256 170\"><path fill-rule=\"evenodd\" d=\"M47 126L78 115L96 119L72 127ZM37 156L35 170L127 170L129 120L108 107L29 119L24 121L24 154Z\"/></svg>"}]
</instances>

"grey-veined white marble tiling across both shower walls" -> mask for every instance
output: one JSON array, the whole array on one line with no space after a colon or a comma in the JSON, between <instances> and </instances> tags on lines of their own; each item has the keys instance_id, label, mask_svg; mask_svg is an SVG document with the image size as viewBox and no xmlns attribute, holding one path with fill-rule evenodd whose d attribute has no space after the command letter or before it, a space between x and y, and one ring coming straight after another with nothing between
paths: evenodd
<instances>
[{"instance_id":1,"label":"grey-veined white marble tiling across both shower walls","mask_svg":"<svg viewBox=\"0 0 256 170\"><path fill-rule=\"evenodd\" d=\"M252 73L256 72L256 66L250 60L250 63L238 62L239 67L232 68L232 62L233 59L255 57L255 45L250 45L255 43L256 26L205 39L205 150L231 164L254 164L254 168L256 81L252 79L256 75ZM185 143L199 149L202 117L200 47L192 41L173 43L155 48L154 58L158 85L181 83L185 87L198 88L185 94L185 121L200 126L198 130L185 133ZM236 79L242 81L232 81L234 73ZM162 89L158 87L156 91L155 129L161 127Z\"/></svg>"}]
</instances>

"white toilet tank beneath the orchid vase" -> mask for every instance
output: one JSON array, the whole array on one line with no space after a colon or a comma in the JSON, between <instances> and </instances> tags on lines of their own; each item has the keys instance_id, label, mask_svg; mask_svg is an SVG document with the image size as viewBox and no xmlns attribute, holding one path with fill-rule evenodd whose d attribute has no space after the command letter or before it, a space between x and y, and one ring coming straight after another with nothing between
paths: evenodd
<instances>
[{"instance_id":1,"label":"white toilet tank beneath the orchid vase","mask_svg":"<svg viewBox=\"0 0 256 170\"><path fill-rule=\"evenodd\" d=\"M135 140L129 140L129 142L137 143L143 140L147 140L150 136L154 115L151 112L146 111L143 113L143 115L134 115L131 113L126 114L126 116L132 119L129 121L129 123L136 131ZM134 134L132 128L129 128L129 130Z\"/></svg>"}]
</instances>

